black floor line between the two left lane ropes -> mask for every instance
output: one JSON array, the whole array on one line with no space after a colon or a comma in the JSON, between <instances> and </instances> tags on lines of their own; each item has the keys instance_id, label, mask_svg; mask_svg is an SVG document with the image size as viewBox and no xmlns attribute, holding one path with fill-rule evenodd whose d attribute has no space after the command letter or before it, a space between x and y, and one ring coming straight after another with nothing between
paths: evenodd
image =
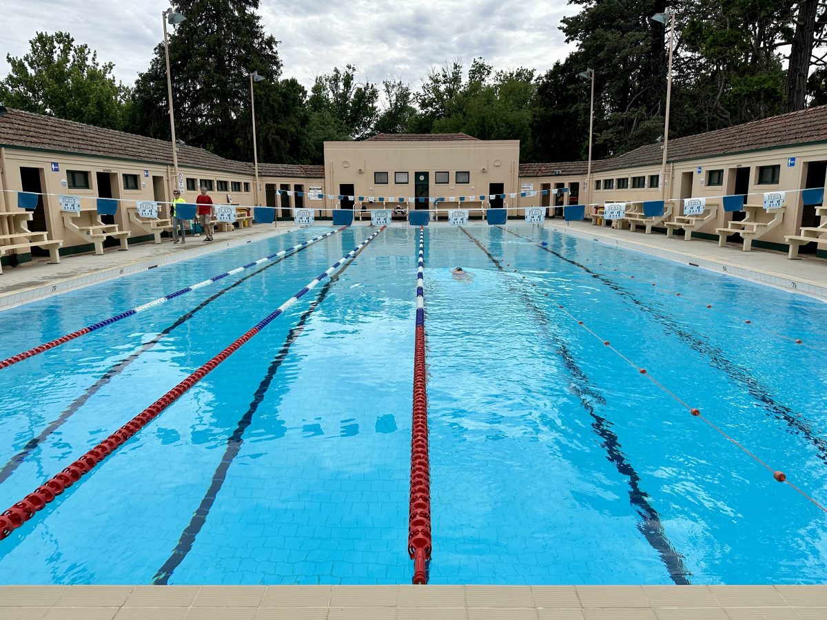
<instances>
[{"instance_id":1,"label":"black floor line between the two left lane ropes","mask_svg":"<svg viewBox=\"0 0 827 620\"><path fill-rule=\"evenodd\" d=\"M298 254L301 250L304 250L304 246L299 248L299 250L282 256L280 259L275 260L275 262L270 263L270 265L265 265L261 269L257 271L253 271L251 274L245 275L243 278L239 279L236 283L231 284L226 289L221 289L218 293L213 294L211 297L204 299L203 302L199 303L198 306L187 312L186 314L179 317L177 321L175 321L169 327L166 327L164 331L161 331L157 336L155 336L151 341L148 341L141 345L141 347L129 355L126 359L117 363L117 365L112 366L106 374L98 379L93 385L89 386L84 393L82 393L78 398L75 398L72 403L69 404L69 407L65 408L64 412L60 414L60 416L56 417L55 420L50 422L49 426L45 427L40 434L36 437L32 437L28 442L26 442L26 446L23 446L22 450L17 452L16 455L12 456L11 459L8 460L6 465L3 465L2 470L0 470L0 484L4 483L9 476L11 476L15 470L17 470L20 465L26 460L26 457L31 455L37 446L40 446L41 442L44 441L48 436L50 436L53 432L55 432L58 428L63 426L64 422L66 422L69 417L72 417L74 413L76 413L79 408L83 407L84 404L87 403L89 398L92 398L98 391L103 388L104 385L108 384L112 379L114 379L118 374L122 373L123 370L126 370L127 366L131 365L133 361L135 361L139 355L142 353L146 353L149 351L153 346L158 344L161 338L164 336L168 336L170 332L172 332L177 327L180 327L185 322L189 321L190 318L193 317L195 312L202 310L208 304L213 303L216 299L221 297L224 293L228 293L232 289L235 289L239 284L246 282L246 280L251 279L253 276L261 274L261 272L265 271L266 269L270 269L270 267L275 267L278 265L282 260L288 258L289 256L294 256Z\"/></svg>"}]
</instances>

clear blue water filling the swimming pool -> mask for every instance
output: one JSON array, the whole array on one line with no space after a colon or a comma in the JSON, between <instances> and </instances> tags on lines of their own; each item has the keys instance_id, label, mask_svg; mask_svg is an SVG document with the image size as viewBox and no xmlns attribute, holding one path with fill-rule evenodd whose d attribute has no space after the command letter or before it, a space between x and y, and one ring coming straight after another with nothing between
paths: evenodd
<instances>
[{"instance_id":1,"label":"clear blue water filling the swimming pool","mask_svg":"<svg viewBox=\"0 0 827 620\"><path fill-rule=\"evenodd\" d=\"M824 583L827 514L602 341L825 503L825 303L509 229L520 236L426 229L430 583ZM0 312L0 359L320 230ZM0 370L0 507L368 234L347 229ZM0 541L0 583L409 583L417 250L417 230L382 232Z\"/></svg>"}]
</instances>

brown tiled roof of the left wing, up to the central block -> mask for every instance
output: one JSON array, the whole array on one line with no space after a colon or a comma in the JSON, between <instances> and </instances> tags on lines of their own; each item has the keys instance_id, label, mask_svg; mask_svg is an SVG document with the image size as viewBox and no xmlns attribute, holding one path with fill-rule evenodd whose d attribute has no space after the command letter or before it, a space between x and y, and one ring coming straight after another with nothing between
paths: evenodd
<instances>
[{"instance_id":1,"label":"brown tiled roof of the left wing, up to the central block","mask_svg":"<svg viewBox=\"0 0 827 620\"><path fill-rule=\"evenodd\" d=\"M170 142L11 108L5 117L0 117L0 145L58 150L84 155L103 155L118 160L151 161L172 165ZM178 163L180 166L253 174L253 165L249 162L226 160L208 150L190 145L179 146ZM261 170L264 166L266 164L259 165L259 169ZM278 165L275 166L278 167ZM291 169L291 173L293 168L299 169L296 172L301 173L290 174L291 176L308 176L308 170L316 174L315 168L322 169L321 174L318 174L319 177L324 176L323 166L288 166L288 168Z\"/></svg>"}]
</instances>

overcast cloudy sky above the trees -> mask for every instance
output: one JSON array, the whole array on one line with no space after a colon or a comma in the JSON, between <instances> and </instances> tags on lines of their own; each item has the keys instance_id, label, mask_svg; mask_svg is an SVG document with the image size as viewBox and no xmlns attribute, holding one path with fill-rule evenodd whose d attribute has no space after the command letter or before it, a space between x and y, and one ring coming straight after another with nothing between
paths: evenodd
<instances>
[{"instance_id":1,"label":"overcast cloudy sky above the trees","mask_svg":"<svg viewBox=\"0 0 827 620\"><path fill-rule=\"evenodd\" d=\"M68 31L135 82L163 38L166 0L0 0L6 54L22 56L36 31ZM431 66L460 58L466 69L483 56L495 69L544 72L566 57L560 18L576 12L566 0L261 0L265 30L275 36L284 77L306 88L333 67L355 64L360 81L395 77L418 89ZM196 16L189 16L196 19Z\"/></svg>"}]
</instances>

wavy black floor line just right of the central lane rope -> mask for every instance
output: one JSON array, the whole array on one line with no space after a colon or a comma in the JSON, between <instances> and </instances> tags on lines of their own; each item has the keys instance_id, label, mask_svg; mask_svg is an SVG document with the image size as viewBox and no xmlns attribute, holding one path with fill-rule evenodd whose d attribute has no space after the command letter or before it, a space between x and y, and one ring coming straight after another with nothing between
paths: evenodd
<instances>
[{"instance_id":1,"label":"wavy black floor line just right of the central lane rope","mask_svg":"<svg viewBox=\"0 0 827 620\"><path fill-rule=\"evenodd\" d=\"M497 260L475 236L471 235L471 233L463 227L460 227L460 230L464 232L471 241L474 241L480 250L485 252L485 255L488 256L497 269L507 273L500 263L500 260ZM603 394L593 387L588 375L586 375L580 365L577 364L577 361L574 356L571 355L571 351L568 350L565 343L557 338L548 328L547 314L538 308L525 290L519 290L519 293L523 297L526 306L538 317L539 322L541 322L545 328L548 339L552 341L552 345L556 347L557 355L562 359L566 370L568 370L571 375L571 379L574 379L574 384L572 384L571 387L577 394L582 408L594 419L595 422L591 427L595 429L597 436L602 440L601 446L605 449L607 458L614 465L615 469L618 470L618 473L628 479L629 503L632 504L635 512L637 512L641 518L641 521L638 522L638 531L643 534L643 537L649 545L657 551L657 554L666 566L670 579L677 585L690 585L689 577L691 576L691 572L689 572L686 565L684 565L681 553L675 550L675 547L672 546L672 541L667 537L660 515L653 505L649 503L648 494L640 488L640 475L638 475L633 465L629 463L629 460L626 459L623 451L620 450L618 436L611 429L612 422L600 416L595 410L593 403L605 405L606 401L605 398L603 398Z\"/></svg>"}]
</instances>

